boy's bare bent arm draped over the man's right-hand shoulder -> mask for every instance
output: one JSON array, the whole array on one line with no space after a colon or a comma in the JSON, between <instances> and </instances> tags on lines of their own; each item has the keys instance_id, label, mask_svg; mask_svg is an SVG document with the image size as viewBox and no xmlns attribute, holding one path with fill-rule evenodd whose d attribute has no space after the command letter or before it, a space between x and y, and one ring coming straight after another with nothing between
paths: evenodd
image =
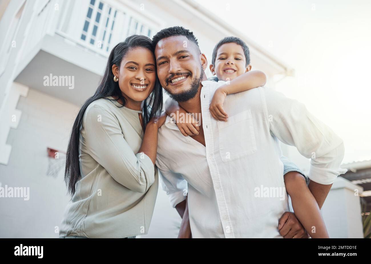
<instances>
[{"instance_id":1,"label":"boy's bare bent arm draped over the man's right-hand shoulder","mask_svg":"<svg viewBox=\"0 0 371 264\"><path fill-rule=\"evenodd\" d=\"M224 99L232 93L244 92L259 86L265 85L267 77L264 72L260 70L252 70L245 72L230 82L221 85L215 90L213 99L210 103L210 112L213 118L220 121L227 121L228 114L223 109Z\"/></svg>"}]
</instances>

